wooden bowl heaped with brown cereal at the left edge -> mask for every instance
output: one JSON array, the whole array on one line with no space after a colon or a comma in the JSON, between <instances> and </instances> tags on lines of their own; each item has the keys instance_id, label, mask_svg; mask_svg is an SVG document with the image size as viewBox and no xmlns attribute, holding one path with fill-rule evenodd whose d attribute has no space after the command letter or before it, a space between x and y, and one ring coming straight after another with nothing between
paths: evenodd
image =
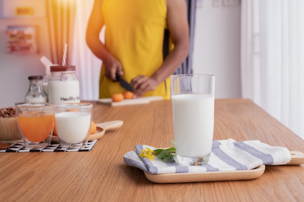
<instances>
[{"instance_id":1,"label":"wooden bowl heaped with brown cereal at the left edge","mask_svg":"<svg viewBox=\"0 0 304 202\"><path fill-rule=\"evenodd\" d=\"M0 109L0 142L16 143L22 141L17 124L16 109L13 107Z\"/></svg>"}]
</instances>

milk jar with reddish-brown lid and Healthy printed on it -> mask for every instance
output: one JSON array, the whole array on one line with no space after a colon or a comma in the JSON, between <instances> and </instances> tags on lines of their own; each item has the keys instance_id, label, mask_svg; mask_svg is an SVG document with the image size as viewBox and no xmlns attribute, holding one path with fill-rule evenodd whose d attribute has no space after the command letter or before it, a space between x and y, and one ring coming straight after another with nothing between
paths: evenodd
<instances>
[{"instance_id":1,"label":"milk jar with reddish-brown lid and Healthy printed on it","mask_svg":"<svg viewBox=\"0 0 304 202\"><path fill-rule=\"evenodd\" d=\"M75 75L76 66L51 66L51 78L48 81L49 102L53 104L79 103L79 81Z\"/></svg>"}]
</instances>

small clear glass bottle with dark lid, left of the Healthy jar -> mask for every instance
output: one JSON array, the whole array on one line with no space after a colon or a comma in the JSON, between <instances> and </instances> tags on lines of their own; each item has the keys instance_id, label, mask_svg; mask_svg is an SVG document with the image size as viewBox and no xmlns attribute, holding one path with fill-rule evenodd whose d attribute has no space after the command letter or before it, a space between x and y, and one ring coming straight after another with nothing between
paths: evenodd
<instances>
[{"instance_id":1,"label":"small clear glass bottle with dark lid, left of the Healthy jar","mask_svg":"<svg viewBox=\"0 0 304 202\"><path fill-rule=\"evenodd\" d=\"M42 76L30 76L30 88L25 95L26 103L48 102L48 96L43 90Z\"/></svg>"}]
</instances>

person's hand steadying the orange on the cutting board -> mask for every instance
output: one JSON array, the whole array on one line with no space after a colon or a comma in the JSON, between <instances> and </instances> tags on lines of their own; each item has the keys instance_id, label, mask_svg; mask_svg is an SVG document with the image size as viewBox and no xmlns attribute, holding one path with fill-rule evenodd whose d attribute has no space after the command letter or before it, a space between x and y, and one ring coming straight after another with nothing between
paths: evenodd
<instances>
[{"instance_id":1,"label":"person's hand steadying the orange on the cutting board","mask_svg":"<svg viewBox=\"0 0 304 202\"><path fill-rule=\"evenodd\" d=\"M135 89L135 97L140 97L142 94L147 91L153 91L158 86L158 83L155 79L149 78L143 75L139 75L131 80L131 85Z\"/></svg>"}]
</instances>

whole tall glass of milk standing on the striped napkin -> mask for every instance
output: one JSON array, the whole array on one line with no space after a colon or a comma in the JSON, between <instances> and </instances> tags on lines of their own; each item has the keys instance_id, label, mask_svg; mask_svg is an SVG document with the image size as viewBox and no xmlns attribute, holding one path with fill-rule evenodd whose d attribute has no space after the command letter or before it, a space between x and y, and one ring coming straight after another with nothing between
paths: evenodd
<instances>
[{"instance_id":1,"label":"whole tall glass of milk standing on the striped napkin","mask_svg":"<svg viewBox=\"0 0 304 202\"><path fill-rule=\"evenodd\" d=\"M214 130L214 75L172 75L171 102L176 160L208 163Z\"/></svg>"}]
</instances>

